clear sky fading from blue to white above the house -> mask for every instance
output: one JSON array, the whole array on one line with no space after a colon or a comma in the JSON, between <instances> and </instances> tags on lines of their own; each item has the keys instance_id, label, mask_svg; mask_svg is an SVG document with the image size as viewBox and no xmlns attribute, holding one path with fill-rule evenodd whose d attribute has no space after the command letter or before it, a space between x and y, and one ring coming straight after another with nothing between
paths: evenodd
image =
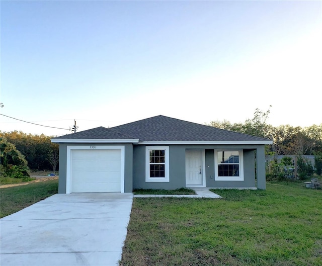
<instances>
[{"instance_id":1,"label":"clear sky fading from blue to white above the house","mask_svg":"<svg viewBox=\"0 0 322 266\"><path fill-rule=\"evenodd\" d=\"M321 1L1 1L0 113L78 131L155 115L322 123ZM320 95L320 93L319 93ZM0 116L0 130L63 135Z\"/></svg>"}]
</instances>

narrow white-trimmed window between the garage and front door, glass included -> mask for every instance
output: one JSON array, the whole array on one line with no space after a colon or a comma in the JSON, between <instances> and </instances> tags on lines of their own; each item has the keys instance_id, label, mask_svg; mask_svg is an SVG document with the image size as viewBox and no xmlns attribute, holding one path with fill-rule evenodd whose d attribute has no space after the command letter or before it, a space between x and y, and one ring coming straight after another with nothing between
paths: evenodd
<instances>
[{"instance_id":1,"label":"narrow white-trimmed window between the garage and front door, glass included","mask_svg":"<svg viewBox=\"0 0 322 266\"><path fill-rule=\"evenodd\" d=\"M169 146L145 147L145 182L169 182Z\"/></svg>"}]
</instances>

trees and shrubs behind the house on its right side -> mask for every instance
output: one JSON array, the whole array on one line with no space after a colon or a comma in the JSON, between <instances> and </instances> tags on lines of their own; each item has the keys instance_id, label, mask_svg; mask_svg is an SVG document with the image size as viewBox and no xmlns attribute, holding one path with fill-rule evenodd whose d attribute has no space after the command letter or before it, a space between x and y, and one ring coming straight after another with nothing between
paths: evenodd
<instances>
[{"instance_id":1,"label":"trees and shrubs behind the house on its right side","mask_svg":"<svg viewBox=\"0 0 322 266\"><path fill-rule=\"evenodd\" d=\"M265 146L266 155L275 157L267 165L266 177L277 178L279 180L295 178L304 180L310 178L315 172L321 175L322 172L322 124L309 127L293 127L281 125L274 127L266 123L270 110L263 112L255 110L254 118L248 119L245 123L231 124L229 121L211 121L208 125L249 134L252 136L263 137L273 140L272 145ZM276 155L286 155L278 162ZM292 165L291 158L287 155L296 156L296 165ZM314 165L303 155L314 155ZM295 175L289 170L295 167Z\"/></svg>"}]
</instances>

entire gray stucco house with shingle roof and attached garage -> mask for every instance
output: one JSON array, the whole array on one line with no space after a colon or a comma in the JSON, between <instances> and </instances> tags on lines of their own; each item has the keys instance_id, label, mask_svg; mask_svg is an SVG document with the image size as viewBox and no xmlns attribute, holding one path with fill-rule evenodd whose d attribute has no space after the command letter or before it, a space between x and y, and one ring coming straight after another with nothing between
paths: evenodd
<instances>
[{"instance_id":1,"label":"entire gray stucco house with shingle roof and attached garage","mask_svg":"<svg viewBox=\"0 0 322 266\"><path fill-rule=\"evenodd\" d=\"M58 193L266 189L264 146L272 144L161 115L51 141L59 143Z\"/></svg>"}]
</instances>

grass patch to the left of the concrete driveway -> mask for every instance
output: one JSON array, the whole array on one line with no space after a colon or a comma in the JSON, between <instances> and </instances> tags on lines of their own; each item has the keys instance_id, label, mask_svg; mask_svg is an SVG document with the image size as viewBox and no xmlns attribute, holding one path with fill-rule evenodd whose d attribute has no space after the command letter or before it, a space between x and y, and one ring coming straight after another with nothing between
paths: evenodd
<instances>
[{"instance_id":1,"label":"grass patch to the left of the concrete driveway","mask_svg":"<svg viewBox=\"0 0 322 266\"><path fill-rule=\"evenodd\" d=\"M0 218L20 211L58 192L58 180L1 189Z\"/></svg>"}]
</instances>

